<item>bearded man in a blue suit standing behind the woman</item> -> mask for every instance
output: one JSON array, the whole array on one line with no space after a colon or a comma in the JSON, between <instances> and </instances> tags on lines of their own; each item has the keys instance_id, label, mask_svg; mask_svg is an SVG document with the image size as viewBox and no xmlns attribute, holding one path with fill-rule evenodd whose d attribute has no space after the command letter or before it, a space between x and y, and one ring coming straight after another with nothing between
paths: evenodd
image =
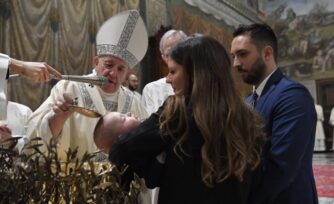
<instances>
[{"instance_id":1,"label":"bearded man in a blue suit standing behind the woman","mask_svg":"<svg viewBox=\"0 0 334 204\"><path fill-rule=\"evenodd\" d=\"M312 170L316 112L308 90L277 68L277 39L265 24L240 26L231 44L233 67L253 85L254 105L265 121L263 180L256 204L318 203Z\"/></svg>"}]
</instances>

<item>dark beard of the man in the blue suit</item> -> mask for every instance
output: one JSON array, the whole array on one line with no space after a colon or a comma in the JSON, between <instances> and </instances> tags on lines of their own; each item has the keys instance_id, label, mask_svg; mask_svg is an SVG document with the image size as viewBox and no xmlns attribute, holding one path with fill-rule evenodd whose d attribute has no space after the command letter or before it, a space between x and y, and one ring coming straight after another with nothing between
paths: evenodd
<instances>
[{"instance_id":1,"label":"dark beard of the man in the blue suit","mask_svg":"<svg viewBox=\"0 0 334 204\"><path fill-rule=\"evenodd\" d=\"M242 70L242 69L241 69ZM247 84L258 85L261 83L266 72L266 65L259 57L248 70L248 75L243 77L243 81Z\"/></svg>"}]
</instances>

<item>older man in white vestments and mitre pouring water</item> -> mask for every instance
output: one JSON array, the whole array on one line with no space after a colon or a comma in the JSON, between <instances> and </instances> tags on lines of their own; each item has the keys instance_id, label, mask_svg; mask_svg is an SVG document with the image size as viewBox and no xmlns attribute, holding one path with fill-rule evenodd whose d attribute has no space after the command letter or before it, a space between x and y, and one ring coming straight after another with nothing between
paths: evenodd
<instances>
[{"instance_id":1,"label":"older man in white vestments and mitre pouring water","mask_svg":"<svg viewBox=\"0 0 334 204\"><path fill-rule=\"evenodd\" d=\"M69 148L78 148L78 158L85 152L98 151L93 131L99 118L71 111L74 101L76 106L100 115L117 111L131 112L140 119L148 117L141 102L121 86L128 69L144 57L147 46L146 27L138 11L125 11L108 19L96 36L97 56L91 74L104 76L108 82L101 87L73 81L58 82L31 116L27 137L30 140L41 137L44 144L51 139L56 141L59 157L64 161Z\"/></svg>"}]
</instances>

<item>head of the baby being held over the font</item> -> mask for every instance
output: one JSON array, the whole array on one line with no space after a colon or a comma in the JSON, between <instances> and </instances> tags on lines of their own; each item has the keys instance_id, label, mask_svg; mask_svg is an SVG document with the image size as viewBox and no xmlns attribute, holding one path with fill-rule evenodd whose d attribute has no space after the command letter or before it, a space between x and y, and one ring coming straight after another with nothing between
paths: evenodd
<instances>
[{"instance_id":1,"label":"head of the baby being held over the font","mask_svg":"<svg viewBox=\"0 0 334 204\"><path fill-rule=\"evenodd\" d=\"M131 113L107 113L95 127L94 141L96 146L105 153L109 153L113 141L121 134L127 133L137 127L139 123L140 120Z\"/></svg>"}]
</instances>

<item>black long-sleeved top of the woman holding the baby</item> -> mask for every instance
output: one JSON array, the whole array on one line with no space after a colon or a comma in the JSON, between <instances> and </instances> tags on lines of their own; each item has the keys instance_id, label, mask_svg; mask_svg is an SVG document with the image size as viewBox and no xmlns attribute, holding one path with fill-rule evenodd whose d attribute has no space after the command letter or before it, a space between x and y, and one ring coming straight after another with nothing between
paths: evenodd
<instances>
[{"instance_id":1,"label":"black long-sleeved top of the woman holding the baby","mask_svg":"<svg viewBox=\"0 0 334 204\"><path fill-rule=\"evenodd\" d=\"M161 137L160 111L120 136L112 145L109 159L116 165L128 164L145 179L147 187L160 187L159 204L246 204L251 190L257 188L260 168L246 170L242 182L230 176L212 188L207 187L201 178L203 139L194 120L190 122L190 136L182 146L190 156L181 153L180 160L173 151L175 141ZM166 153L164 164L156 159L162 152Z\"/></svg>"}]
</instances>

